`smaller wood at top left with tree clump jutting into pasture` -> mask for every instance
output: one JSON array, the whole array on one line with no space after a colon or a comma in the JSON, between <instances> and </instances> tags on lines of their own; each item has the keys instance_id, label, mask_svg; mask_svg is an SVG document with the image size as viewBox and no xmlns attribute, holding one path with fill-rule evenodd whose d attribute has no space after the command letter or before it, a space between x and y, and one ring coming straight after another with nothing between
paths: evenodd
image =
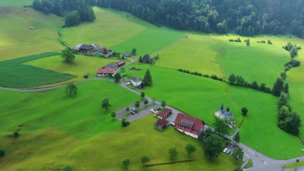
<instances>
[{"instance_id":1,"label":"smaller wood at top left with tree clump jutting into pasture","mask_svg":"<svg viewBox=\"0 0 304 171\"><path fill-rule=\"evenodd\" d=\"M72 26L81 21L94 20L92 7L85 0L34 0L32 7L44 13L54 13L64 17L66 26Z\"/></svg>"}]
</instances>

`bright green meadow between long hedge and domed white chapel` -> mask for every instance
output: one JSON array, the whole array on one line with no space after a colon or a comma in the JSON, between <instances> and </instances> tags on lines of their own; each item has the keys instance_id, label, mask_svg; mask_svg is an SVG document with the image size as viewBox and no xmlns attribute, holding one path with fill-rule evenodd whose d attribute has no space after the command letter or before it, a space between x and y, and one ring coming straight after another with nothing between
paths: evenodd
<instances>
[{"instance_id":1,"label":"bright green meadow between long hedge and domed white chapel","mask_svg":"<svg viewBox=\"0 0 304 171\"><path fill-rule=\"evenodd\" d=\"M207 124L214 122L214 111L223 102L225 106L230 106L238 125L242 118L240 108L246 106L249 111L240 127L241 142L273 158L284 159L303 154L300 150L302 145L296 137L276 126L276 97L175 70L145 64L129 66L142 69L126 70L125 73L132 76L143 77L145 69L150 70L153 87L144 90L148 96L156 96L157 100L164 99L168 104L203 119ZM272 143L273 148L265 145L270 141L275 142ZM287 143L292 146L288 151L285 150Z\"/></svg>"}]
</instances>

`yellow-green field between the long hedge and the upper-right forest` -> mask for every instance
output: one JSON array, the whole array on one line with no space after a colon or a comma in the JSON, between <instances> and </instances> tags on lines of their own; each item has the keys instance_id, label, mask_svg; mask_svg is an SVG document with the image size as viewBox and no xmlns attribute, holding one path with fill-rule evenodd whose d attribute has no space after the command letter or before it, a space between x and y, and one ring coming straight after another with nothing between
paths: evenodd
<instances>
[{"instance_id":1,"label":"yellow-green field between the long hedge and the upper-right forest","mask_svg":"<svg viewBox=\"0 0 304 171\"><path fill-rule=\"evenodd\" d=\"M205 35L188 33L187 38L159 52L156 66L188 69L202 74L216 74L227 78L229 74L241 75L248 82L256 80L271 87L276 77L289 60L288 51L281 45L288 37L250 37L250 46L244 42L229 42L229 38L245 37L238 35ZM272 40L272 45L257 43L260 40Z\"/></svg>"}]
</instances>

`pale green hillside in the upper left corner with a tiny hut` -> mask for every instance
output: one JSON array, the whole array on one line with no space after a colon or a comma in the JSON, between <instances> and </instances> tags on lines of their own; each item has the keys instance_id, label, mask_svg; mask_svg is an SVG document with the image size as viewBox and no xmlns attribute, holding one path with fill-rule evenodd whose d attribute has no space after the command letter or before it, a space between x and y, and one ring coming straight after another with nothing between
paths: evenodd
<instances>
[{"instance_id":1,"label":"pale green hillside in the upper left corner with a tiny hut","mask_svg":"<svg viewBox=\"0 0 304 171\"><path fill-rule=\"evenodd\" d=\"M0 7L0 60L60 50L56 30L61 18L32 8ZM34 26L34 30L29 30Z\"/></svg>"}]
</instances>

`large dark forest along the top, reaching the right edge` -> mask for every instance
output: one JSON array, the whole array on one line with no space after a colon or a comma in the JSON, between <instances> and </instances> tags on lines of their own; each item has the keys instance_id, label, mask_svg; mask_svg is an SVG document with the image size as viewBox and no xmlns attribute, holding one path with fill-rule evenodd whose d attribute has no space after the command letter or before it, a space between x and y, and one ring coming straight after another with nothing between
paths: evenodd
<instances>
[{"instance_id":1,"label":"large dark forest along the top, reaching the right edge","mask_svg":"<svg viewBox=\"0 0 304 171\"><path fill-rule=\"evenodd\" d=\"M86 0L176 29L304 37L303 0Z\"/></svg>"}]
</instances>

